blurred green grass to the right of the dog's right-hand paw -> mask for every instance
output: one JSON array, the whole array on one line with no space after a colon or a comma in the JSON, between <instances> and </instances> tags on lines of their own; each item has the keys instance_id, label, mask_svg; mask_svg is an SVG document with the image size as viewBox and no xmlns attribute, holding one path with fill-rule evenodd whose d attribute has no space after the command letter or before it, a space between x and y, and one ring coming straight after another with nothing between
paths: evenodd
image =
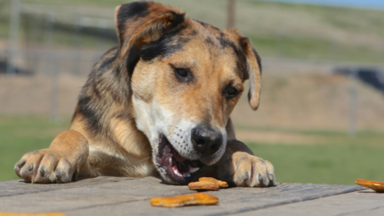
<instances>
[{"instance_id":1,"label":"blurred green grass to the right of the dog's right-hand paw","mask_svg":"<svg viewBox=\"0 0 384 216\"><path fill-rule=\"evenodd\" d=\"M355 179L384 181L382 154L377 145L284 145L247 143L255 155L275 167L276 181L354 184Z\"/></svg>"}]
</instances>

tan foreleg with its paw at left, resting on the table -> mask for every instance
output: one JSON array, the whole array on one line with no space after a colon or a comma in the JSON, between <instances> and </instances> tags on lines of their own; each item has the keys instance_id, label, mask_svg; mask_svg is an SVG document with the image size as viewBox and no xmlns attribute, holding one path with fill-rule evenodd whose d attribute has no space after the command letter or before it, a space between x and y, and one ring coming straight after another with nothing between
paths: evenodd
<instances>
[{"instance_id":1,"label":"tan foreleg with its paw at left, resting on the table","mask_svg":"<svg viewBox=\"0 0 384 216\"><path fill-rule=\"evenodd\" d=\"M67 130L49 148L26 153L15 165L15 173L32 183L65 183L82 175L92 176L88 164L88 141L79 132Z\"/></svg>"}]
</instances>

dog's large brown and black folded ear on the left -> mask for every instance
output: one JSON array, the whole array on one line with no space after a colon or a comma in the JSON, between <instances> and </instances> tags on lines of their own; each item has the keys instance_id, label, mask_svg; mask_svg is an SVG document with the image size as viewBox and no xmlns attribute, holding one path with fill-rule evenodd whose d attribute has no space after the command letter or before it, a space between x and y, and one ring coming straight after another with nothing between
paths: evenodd
<instances>
[{"instance_id":1,"label":"dog's large brown and black folded ear on the left","mask_svg":"<svg viewBox=\"0 0 384 216\"><path fill-rule=\"evenodd\" d=\"M115 26L123 59L132 45L153 42L179 23L184 22L185 12L156 2L132 2L118 6Z\"/></svg>"}]
</instances>

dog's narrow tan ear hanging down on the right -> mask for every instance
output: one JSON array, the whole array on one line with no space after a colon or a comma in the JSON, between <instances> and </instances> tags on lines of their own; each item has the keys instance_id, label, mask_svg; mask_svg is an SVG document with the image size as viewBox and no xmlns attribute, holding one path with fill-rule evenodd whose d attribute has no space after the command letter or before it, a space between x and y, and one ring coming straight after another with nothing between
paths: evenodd
<instances>
[{"instance_id":1,"label":"dog's narrow tan ear hanging down on the right","mask_svg":"<svg viewBox=\"0 0 384 216\"><path fill-rule=\"evenodd\" d=\"M257 110L260 103L262 75L261 58L257 54L256 50L252 47L247 37L242 37L240 39L240 44L247 58L247 71L250 80L250 88L248 91L249 105L253 110Z\"/></svg>"}]
</instances>

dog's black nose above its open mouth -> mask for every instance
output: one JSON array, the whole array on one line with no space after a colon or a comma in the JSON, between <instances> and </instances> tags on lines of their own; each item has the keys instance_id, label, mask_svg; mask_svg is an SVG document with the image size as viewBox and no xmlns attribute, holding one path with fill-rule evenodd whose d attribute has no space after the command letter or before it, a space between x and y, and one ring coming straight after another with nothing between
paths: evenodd
<instances>
[{"instance_id":1,"label":"dog's black nose above its open mouth","mask_svg":"<svg viewBox=\"0 0 384 216\"><path fill-rule=\"evenodd\" d=\"M205 126L194 128L191 139L195 150L203 155L213 155L223 144L222 134Z\"/></svg>"}]
</instances>

